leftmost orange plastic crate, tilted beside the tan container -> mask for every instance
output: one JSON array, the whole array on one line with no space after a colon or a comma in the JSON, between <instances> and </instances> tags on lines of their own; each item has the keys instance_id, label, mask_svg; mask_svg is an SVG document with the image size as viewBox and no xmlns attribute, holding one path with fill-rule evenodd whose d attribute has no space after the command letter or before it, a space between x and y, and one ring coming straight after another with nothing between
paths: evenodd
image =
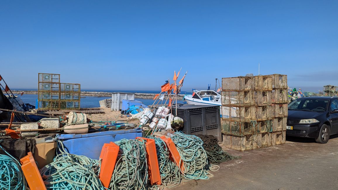
<instances>
[{"instance_id":1,"label":"leftmost orange plastic crate, tilted beside the tan container","mask_svg":"<svg viewBox=\"0 0 338 190\"><path fill-rule=\"evenodd\" d=\"M29 188L36 190L46 189L32 152L28 152L28 155L20 159L20 162L22 172L25 175Z\"/></svg>"}]
</instances>

